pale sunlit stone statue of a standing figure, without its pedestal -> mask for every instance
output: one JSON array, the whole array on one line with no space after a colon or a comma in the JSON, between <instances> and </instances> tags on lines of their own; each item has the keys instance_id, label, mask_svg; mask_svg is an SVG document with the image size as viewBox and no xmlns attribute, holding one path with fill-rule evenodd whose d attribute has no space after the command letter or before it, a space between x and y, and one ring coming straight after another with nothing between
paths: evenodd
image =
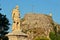
<instances>
[{"instance_id":1,"label":"pale sunlit stone statue of a standing figure, without its pedestal","mask_svg":"<svg viewBox=\"0 0 60 40\"><path fill-rule=\"evenodd\" d=\"M20 31L20 13L19 13L19 7L16 6L15 9L12 11L12 19L13 19L13 25L12 25L12 31Z\"/></svg>"}]
</instances>

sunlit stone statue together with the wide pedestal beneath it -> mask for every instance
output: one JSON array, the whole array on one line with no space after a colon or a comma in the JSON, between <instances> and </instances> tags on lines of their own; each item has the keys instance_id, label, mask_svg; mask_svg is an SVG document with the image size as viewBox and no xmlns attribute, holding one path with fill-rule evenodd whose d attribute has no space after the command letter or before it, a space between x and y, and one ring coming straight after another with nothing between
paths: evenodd
<instances>
[{"instance_id":1,"label":"sunlit stone statue together with the wide pedestal beneath it","mask_svg":"<svg viewBox=\"0 0 60 40\"><path fill-rule=\"evenodd\" d=\"M18 6L16 6L12 11L12 19L12 32L6 35L9 40L28 40L28 35L23 33L20 28L20 13Z\"/></svg>"}]
</instances>

